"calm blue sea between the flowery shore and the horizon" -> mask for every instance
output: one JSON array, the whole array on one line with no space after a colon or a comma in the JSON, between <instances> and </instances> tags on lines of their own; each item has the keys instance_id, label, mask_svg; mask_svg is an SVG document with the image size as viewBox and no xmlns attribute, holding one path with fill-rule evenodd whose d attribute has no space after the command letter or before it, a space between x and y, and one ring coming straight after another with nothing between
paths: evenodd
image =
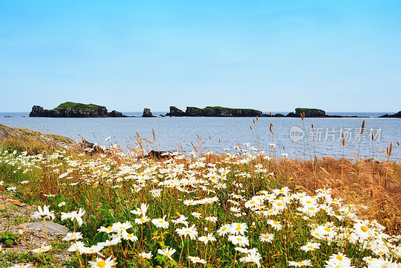
<instances>
[{"instance_id":1,"label":"calm blue sea between the flowery shore and the horizon","mask_svg":"<svg viewBox=\"0 0 401 268\"><path fill-rule=\"evenodd\" d=\"M153 115L165 114L166 112L152 112ZM276 113L276 112L275 112ZM287 114L287 112L282 112ZM141 116L142 112L123 112L131 116ZM397 118L370 118L380 116L384 113L327 113L335 115L365 116L366 118L306 118L305 133L302 132L303 125L300 118L273 118L276 131L274 143L277 153L288 154L289 158L309 158L309 151L313 155L313 140L311 135L311 124L315 128L315 155L317 157L331 156L339 158L342 156L341 131L346 137L345 156L352 159L352 152L358 151L359 133L362 120L366 120L365 135L362 136L359 155L372 158L372 141L370 129L375 135L375 147L379 159L384 159L385 154L380 149L386 149L390 141L393 142L393 155L391 158L400 161L401 149L396 141L401 142L401 119ZM393 114L393 112L389 112ZM175 143L182 145L186 152L193 150L190 142L195 144L197 134L204 141L207 150L234 152L234 146L238 143L250 143L256 147L253 132L249 125L254 128L252 118L227 118L227 117L156 117L156 118L43 118L28 117L29 113L0 113L0 123L9 126L28 127L43 133L60 134L81 140L78 134L86 140L107 145L104 141L108 136L112 141L118 141L121 147L127 142L133 145L135 140L133 134L138 133L142 138L152 138L152 128L155 131L156 143L160 150L177 150ZM11 117L5 117L11 116ZM25 117L24 117L25 116ZM269 151L269 143L272 136L269 131L271 118L259 118L259 141L261 149ZM300 128L300 129L299 129ZM290 131L291 130L291 131ZM303 134L302 134L303 133ZM302 138L300 135L304 135ZM209 136L211 139L209 139ZM113 138L114 137L114 138ZM276 140L278 138L278 141ZM291 141L291 137L294 142ZM297 140L298 139L298 140ZM308 142L307 142L308 139ZM284 149L283 149L284 147ZM376 157L376 156L375 156Z\"/></svg>"}]
</instances>

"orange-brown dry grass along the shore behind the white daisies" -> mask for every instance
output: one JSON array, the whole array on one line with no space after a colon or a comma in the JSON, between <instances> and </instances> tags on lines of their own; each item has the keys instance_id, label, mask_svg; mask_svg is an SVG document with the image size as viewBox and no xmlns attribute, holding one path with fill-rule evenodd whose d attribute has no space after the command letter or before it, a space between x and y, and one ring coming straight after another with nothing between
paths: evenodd
<instances>
[{"instance_id":1,"label":"orange-brown dry grass along the shore behind the white daisies","mask_svg":"<svg viewBox=\"0 0 401 268\"><path fill-rule=\"evenodd\" d=\"M225 154L203 155L208 162L219 162ZM359 158L360 159L360 158ZM261 163L258 159L256 162ZM401 163L366 159L316 158L310 160L278 159L264 162L284 185L300 187L308 193L319 188L332 188L333 195L345 203L366 206L360 218L377 219L393 233L401 228ZM342 183L341 183L342 169Z\"/></svg>"}]
</instances>

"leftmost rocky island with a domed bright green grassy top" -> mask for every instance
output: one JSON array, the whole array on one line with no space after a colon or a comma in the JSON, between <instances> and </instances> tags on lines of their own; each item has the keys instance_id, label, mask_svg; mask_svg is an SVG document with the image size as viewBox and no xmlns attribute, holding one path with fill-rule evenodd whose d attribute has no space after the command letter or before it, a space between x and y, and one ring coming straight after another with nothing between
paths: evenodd
<instances>
[{"instance_id":1,"label":"leftmost rocky island with a domed bright green grassy top","mask_svg":"<svg viewBox=\"0 0 401 268\"><path fill-rule=\"evenodd\" d=\"M29 114L30 117L127 117L115 110L107 112L105 106L65 102L52 110L45 110L35 105Z\"/></svg>"}]
</instances>

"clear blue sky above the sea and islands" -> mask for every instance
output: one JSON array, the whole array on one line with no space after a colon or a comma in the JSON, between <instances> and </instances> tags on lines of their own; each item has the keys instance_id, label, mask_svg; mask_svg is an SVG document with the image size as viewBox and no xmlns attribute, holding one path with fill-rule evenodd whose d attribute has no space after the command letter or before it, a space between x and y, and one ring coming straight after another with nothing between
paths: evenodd
<instances>
[{"instance_id":1,"label":"clear blue sky above the sea and islands","mask_svg":"<svg viewBox=\"0 0 401 268\"><path fill-rule=\"evenodd\" d=\"M401 110L400 1L2 1L0 112Z\"/></svg>"}]
</instances>

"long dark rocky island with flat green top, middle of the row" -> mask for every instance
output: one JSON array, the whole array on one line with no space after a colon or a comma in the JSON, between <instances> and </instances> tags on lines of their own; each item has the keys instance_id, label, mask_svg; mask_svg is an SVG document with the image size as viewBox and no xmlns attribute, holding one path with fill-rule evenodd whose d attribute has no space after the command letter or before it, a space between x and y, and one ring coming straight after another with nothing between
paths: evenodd
<instances>
[{"instance_id":1,"label":"long dark rocky island with flat green top, middle of the row","mask_svg":"<svg viewBox=\"0 0 401 268\"><path fill-rule=\"evenodd\" d=\"M253 109L233 109L225 107L211 107L200 109L197 107L186 107L185 112L177 109L174 106L170 106L170 112L167 116L208 116L208 117L263 117L261 111Z\"/></svg>"}]
</instances>

